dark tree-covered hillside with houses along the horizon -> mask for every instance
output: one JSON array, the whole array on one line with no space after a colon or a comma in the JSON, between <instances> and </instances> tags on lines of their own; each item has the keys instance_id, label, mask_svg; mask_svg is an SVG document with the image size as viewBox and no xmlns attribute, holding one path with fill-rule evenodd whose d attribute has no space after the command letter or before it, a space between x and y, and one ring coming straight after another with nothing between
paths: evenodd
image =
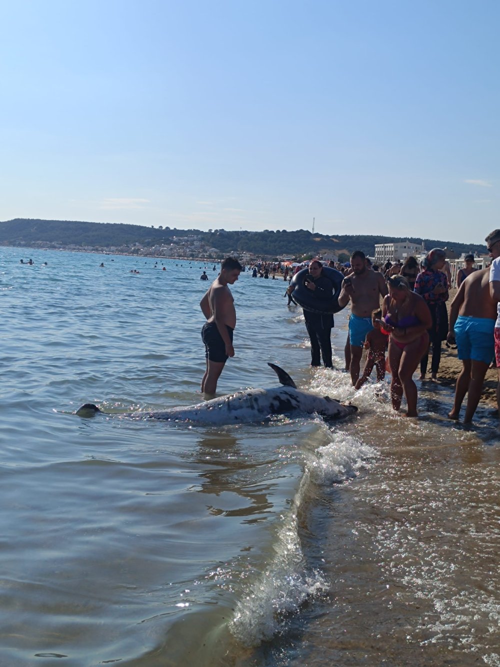
<instances>
[{"instance_id":1,"label":"dark tree-covered hillside with houses along the horizon","mask_svg":"<svg viewBox=\"0 0 500 667\"><path fill-rule=\"evenodd\" d=\"M406 241L425 243L427 249L447 247L460 256L461 253L484 253L485 245L476 243L457 243L440 239L421 239L420 237L392 237L354 234L313 234L305 229L287 231L225 231L215 229L199 231L197 229L170 229L169 227L143 227L118 223L77 222L67 220L34 220L17 218L0 222L1 245L40 245L43 243L61 246L77 245L92 247L120 247L140 243L145 247L169 245L174 236L189 237L195 235L207 248L217 248L223 254L250 252L259 256L289 255L291 257L318 255L343 251L351 253L362 250L365 255L375 254L376 243Z\"/></svg>"}]
</instances>

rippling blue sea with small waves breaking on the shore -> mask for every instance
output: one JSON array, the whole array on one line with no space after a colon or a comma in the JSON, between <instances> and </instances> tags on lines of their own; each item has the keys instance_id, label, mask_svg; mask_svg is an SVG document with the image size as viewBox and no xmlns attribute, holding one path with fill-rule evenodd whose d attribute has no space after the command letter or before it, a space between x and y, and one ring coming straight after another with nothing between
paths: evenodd
<instances>
[{"instance_id":1,"label":"rippling blue sea with small waves breaking on the shore","mask_svg":"<svg viewBox=\"0 0 500 667\"><path fill-rule=\"evenodd\" d=\"M287 283L241 273L217 390L273 362L352 418L121 417L203 400L203 270L0 248L0 665L500 666L498 423L450 422L439 384L418 419L355 392L347 311L312 369Z\"/></svg>"}]
</instances>

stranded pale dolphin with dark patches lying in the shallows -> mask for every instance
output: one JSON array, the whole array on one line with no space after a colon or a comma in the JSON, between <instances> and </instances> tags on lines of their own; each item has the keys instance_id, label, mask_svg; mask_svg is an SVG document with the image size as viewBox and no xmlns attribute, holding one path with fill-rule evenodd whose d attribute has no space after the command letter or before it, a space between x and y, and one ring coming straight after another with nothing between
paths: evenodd
<instances>
[{"instance_id":1,"label":"stranded pale dolphin with dark patches lying in the shallows","mask_svg":"<svg viewBox=\"0 0 500 667\"><path fill-rule=\"evenodd\" d=\"M269 364L283 386L273 389L249 389L227 394L195 406L169 408L159 412L129 412L132 419L157 419L197 424L245 424L258 422L276 414L319 414L327 419L340 419L357 411L356 406L344 405L329 396L318 396L297 389L295 382L279 366ZM91 417L101 412L92 403L85 403L76 414Z\"/></svg>"}]
</instances>

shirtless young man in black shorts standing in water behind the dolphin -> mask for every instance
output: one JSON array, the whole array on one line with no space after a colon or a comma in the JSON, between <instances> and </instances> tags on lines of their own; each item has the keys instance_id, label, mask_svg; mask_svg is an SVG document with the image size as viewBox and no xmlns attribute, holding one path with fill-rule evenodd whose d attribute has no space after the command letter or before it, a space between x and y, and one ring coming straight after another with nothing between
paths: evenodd
<instances>
[{"instance_id":1,"label":"shirtless young man in black shorts standing in water behind the dolphin","mask_svg":"<svg viewBox=\"0 0 500 667\"><path fill-rule=\"evenodd\" d=\"M217 380L228 357L235 356L233 331L236 326L236 311L233 295L228 285L233 285L241 271L241 264L234 257L226 257L221 273L210 285L199 305L207 321L201 329L201 340L205 343L207 370L201 380L201 391L215 394Z\"/></svg>"}]
</instances>

